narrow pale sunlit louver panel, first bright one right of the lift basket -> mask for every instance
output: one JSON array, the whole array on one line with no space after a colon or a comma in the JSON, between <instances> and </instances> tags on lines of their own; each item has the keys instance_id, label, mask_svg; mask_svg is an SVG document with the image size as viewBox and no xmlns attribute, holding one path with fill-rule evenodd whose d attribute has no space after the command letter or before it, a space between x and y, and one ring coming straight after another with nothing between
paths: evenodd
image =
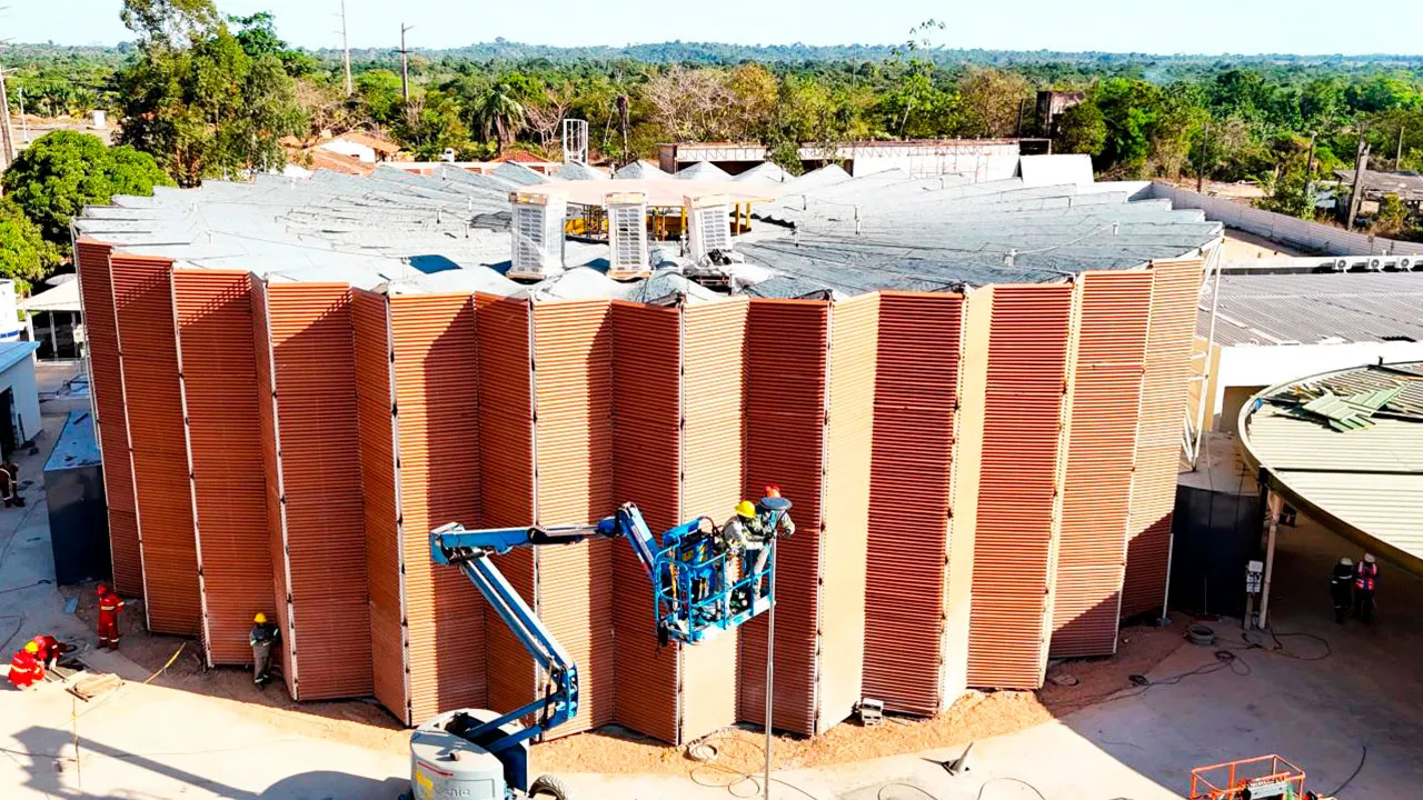
<instances>
[{"instance_id":1,"label":"narrow pale sunlit louver panel, first bright one right of the lift basket","mask_svg":"<svg viewBox=\"0 0 1423 800\"><path fill-rule=\"evenodd\" d=\"M854 713L864 696L879 295L835 302L830 323L817 732ZM936 668L932 655L924 660Z\"/></svg>"}]
</instances>

